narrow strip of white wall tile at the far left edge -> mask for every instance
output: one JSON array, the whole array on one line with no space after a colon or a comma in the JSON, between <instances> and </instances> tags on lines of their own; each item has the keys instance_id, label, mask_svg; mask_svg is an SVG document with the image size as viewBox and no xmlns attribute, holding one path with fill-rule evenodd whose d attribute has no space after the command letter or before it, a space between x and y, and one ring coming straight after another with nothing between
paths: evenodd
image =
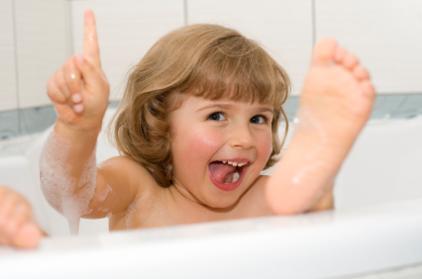
<instances>
[{"instance_id":1,"label":"narrow strip of white wall tile at the far left edge","mask_svg":"<svg viewBox=\"0 0 422 279\"><path fill-rule=\"evenodd\" d=\"M12 0L0 1L0 110L17 108Z\"/></svg>"}]
</instances>

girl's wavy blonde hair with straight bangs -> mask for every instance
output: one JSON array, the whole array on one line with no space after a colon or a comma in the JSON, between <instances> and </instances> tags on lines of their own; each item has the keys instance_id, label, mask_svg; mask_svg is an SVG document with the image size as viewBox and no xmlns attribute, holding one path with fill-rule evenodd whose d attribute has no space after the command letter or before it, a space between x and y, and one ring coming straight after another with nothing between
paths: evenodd
<instances>
[{"instance_id":1,"label":"girl's wavy blonde hair with straight bangs","mask_svg":"<svg viewBox=\"0 0 422 279\"><path fill-rule=\"evenodd\" d=\"M289 90L283 68L239 32L211 24L182 27L155 43L132 70L113 121L114 140L122 154L168 187L173 175L168 115L180 105L174 93L271 104L273 151L267 168L276 162L287 134L282 105ZM280 117L286 122L282 143Z\"/></svg>"}]
</instances>

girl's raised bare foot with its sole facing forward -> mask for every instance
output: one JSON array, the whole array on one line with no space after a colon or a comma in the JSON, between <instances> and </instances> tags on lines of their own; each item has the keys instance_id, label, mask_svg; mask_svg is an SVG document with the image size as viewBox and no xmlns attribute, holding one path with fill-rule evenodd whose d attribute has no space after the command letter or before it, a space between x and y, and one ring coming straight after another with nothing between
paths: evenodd
<instances>
[{"instance_id":1,"label":"girl's raised bare foot with its sole facing forward","mask_svg":"<svg viewBox=\"0 0 422 279\"><path fill-rule=\"evenodd\" d=\"M334 40L320 41L305 79L299 123L268 181L277 214L304 212L331 195L343 160L367 122L375 91L367 70Z\"/></svg>"}]
</instances>

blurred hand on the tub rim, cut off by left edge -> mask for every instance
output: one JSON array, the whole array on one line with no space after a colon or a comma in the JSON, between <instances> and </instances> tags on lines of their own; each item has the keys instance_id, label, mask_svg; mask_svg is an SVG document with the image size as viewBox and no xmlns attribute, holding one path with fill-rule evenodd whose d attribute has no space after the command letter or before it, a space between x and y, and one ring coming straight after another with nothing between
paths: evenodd
<instances>
[{"instance_id":1,"label":"blurred hand on the tub rim, cut off by left edge","mask_svg":"<svg viewBox=\"0 0 422 279\"><path fill-rule=\"evenodd\" d=\"M42 232L34 222L26 199L0 186L0 245L35 248L41 237Z\"/></svg>"}]
</instances>

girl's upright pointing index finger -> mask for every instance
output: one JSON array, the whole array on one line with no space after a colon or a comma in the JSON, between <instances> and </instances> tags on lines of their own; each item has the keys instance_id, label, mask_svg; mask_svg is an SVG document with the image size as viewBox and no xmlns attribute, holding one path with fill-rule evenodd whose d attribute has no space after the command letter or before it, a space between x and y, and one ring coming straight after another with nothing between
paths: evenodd
<instances>
[{"instance_id":1,"label":"girl's upright pointing index finger","mask_svg":"<svg viewBox=\"0 0 422 279\"><path fill-rule=\"evenodd\" d=\"M85 11L84 15L84 56L93 65L101 67L97 27L92 10Z\"/></svg>"}]
</instances>

